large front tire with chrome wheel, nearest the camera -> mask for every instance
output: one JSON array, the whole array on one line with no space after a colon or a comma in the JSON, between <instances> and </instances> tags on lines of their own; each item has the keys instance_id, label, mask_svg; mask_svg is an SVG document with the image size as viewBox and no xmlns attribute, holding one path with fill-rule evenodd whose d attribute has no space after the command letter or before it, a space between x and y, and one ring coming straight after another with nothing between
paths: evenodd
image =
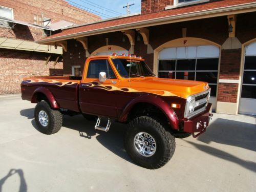
<instances>
[{"instance_id":1,"label":"large front tire with chrome wheel, nearest the camera","mask_svg":"<svg viewBox=\"0 0 256 192\"><path fill-rule=\"evenodd\" d=\"M141 116L133 119L124 136L127 154L139 166L156 169L173 157L175 137L155 119Z\"/></svg>"}]
</instances>

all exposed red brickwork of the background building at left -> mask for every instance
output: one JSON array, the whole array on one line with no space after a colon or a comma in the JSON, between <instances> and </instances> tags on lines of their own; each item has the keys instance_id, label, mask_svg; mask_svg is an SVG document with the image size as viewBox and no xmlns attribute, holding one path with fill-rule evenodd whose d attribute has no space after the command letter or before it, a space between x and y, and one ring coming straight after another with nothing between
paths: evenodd
<instances>
[{"instance_id":1,"label":"all exposed red brickwork of the background building at left","mask_svg":"<svg viewBox=\"0 0 256 192\"><path fill-rule=\"evenodd\" d=\"M41 25L41 14L52 19L51 23L66 20L74 24L95 22L100 19L87 11L75 8L62 0L2 0L1 6L12 8L14 19ZM0 37L36 41L42 38L41 29L16 25L14 29L0 27ZM23 77L62 75L62 61L53 66L53 61L45 66L47 53L0 49L0 94L20 93L20 82ZM53 55L55 60L57 55Z\"/></svg>"}]
</instances>

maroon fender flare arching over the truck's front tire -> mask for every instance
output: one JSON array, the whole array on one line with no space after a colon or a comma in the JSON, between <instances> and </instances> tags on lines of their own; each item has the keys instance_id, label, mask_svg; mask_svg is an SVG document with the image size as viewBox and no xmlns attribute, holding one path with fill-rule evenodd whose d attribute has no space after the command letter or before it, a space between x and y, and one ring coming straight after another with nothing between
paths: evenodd
<instances>
[{"instance_id":1,"label":"maroon fender flare arching over the truck's front tire","mask_svg":"<svg viewBox=\"0 0 256 192\"><path fill-rule=\"evenodd\" d=\"M119 121L124 122L127 120L127 117L130 111L133 109L133 106L137 103L149 103L155 105L159 108L163 114L167 117L168 121L172 125L172 128L175 130L179 129L179 119L174 112L174 110L170 107L170 104L166 103L163 99L158 96L150 95L150 94L143 94L139 97L136 97L132 101L130 101L124 108L123 113L121 114Z\"/></svg>"}]
</instances>

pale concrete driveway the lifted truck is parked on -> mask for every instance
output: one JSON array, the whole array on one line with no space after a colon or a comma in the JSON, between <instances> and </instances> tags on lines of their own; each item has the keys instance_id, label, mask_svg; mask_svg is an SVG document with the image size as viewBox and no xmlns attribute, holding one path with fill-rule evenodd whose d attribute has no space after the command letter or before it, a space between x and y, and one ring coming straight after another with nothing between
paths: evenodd
<instances>
[{"instance_id":1,"label":"pale concrete driveway the lifted truck is parked on","mask_svg":"<svg viewBox=\"0 0 256 192\"><path fill-rule=\"evenodd\" d=\"M123 148L125 126L94 130L81 115L61 130L36 130L35 104L0 97L0 191L255 191L255 117L214 114L199 138L176 139L162 168L135 165Z\"/></svg>"}]
</instances>

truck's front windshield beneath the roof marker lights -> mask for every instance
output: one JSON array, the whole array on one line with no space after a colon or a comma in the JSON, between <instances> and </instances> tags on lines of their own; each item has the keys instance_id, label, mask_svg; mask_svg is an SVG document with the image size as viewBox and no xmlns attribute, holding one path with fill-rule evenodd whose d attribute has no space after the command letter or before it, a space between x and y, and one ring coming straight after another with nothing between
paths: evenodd
<instances>
[{"instance_id":1,"label":"truck's front windshield beneath the roof marker lights","mask_svg":"<svg viewBox=\"0 0 256 192\"><path fill-rule=\"evenodd\" d=\"M131 59L112 58L118 73L124 77L148 77L156 76L144 61ZM130 71L131 70L131 71Z\"/></svg>"}]
</instances>

